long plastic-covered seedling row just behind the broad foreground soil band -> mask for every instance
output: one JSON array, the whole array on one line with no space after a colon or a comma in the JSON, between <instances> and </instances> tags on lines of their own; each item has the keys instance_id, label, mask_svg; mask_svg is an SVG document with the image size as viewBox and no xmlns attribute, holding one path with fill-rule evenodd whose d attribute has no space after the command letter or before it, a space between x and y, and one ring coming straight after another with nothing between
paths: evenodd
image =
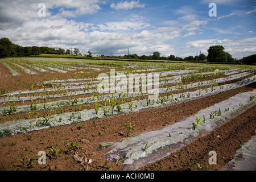
<instances>
[{"instance_id":1,"label":"long plastic-covered seedling row just behind the broad foreground soil band","mask_svg":"<svg viewBox=\"0 0 256 182\"><path fill-rule=\"evenodd\" d=\"M15 122L6 122L1 124L0 128L1 128L2 135L10 135L10 134L16 134L20 132L27 132L32 130L48 128L50 126L69 125L73 122L88 121L93 118L108 117L108 115L112 115L112 114L115 115L120 113L137 112L139 110L148 109L150 107L161 107L163 105L177 104L179 102L189 101L195 98L207 97L210 94L216 94L218 92L223 92L225 90L237 88L239 86L243 86L246 84L250 84L251 82L255 82L255 77L256 76L251 77L250 79L242 80L241 82L236 82L234 84L213 86L210 90L208 90L207 88L207 89L198 89L193 92L185 92L182 94L170 94L165 97L160 97L156 100L142 98L139 101L131 100L131 101L127 101L124 104L122 104L122 102L121 104L118 103L117 97L113 96L113 97L105 98L105 106L102 106L98 104L98 99L94 97L93 100L96 103L96 106L94 107L94 109L87 109L83 111L81 110L81 111L71 112L71 113L47 115L47 116L44 116L43 118L37 118L37 119L25 119L25 120L23 119ZM254 98L255 96L251 96L250 101L253 101ZM38 109L36 105L32 107L35 110ZM30 107L30 109L32 107ZM14 111L15 113L16 111L15 109L10 108L9 113L11 111ZM48 108L45 108L45 109L48 109Z\"/></svg>"}]
</instances>

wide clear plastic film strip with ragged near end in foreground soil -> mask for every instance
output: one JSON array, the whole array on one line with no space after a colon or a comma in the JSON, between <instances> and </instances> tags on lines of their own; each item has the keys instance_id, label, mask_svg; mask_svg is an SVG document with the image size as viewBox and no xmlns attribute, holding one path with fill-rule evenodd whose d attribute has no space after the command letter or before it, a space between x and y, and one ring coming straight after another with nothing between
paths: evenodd
<instances>
[{"instance_id":1,"label":"wide clear plastic film strip with ragged near end in foreground soil","mask_svg":"<svg viewBox=\"0 0 256 182\"><path fill-rule=\"evenodd\" d=\"M135 170L143 167L170 155L236 117L256 103L256 99L250 101L250 97L255 95L256 90L239 93L230 97L229 100L200 110L197 114L174 125L114 142L110 145L114 148L106 153L105 157L114 163L122 159L122 170ZM201 122L194 128L193 123L196 123L196 118Z\"/></svg>"}]
</instances>

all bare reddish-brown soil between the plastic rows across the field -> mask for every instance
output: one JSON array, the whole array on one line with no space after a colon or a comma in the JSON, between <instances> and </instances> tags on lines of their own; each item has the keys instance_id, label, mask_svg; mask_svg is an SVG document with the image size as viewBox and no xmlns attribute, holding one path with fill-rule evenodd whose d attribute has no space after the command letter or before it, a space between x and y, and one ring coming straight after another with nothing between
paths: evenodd
<instances>
[{"instance_id":1,"label":"all bare reddish-brown soil between the plastic rows across the field","mask_svg":"<svg viewBox=\"0 0 256 182\"><path fill-rule=\"evenodd\" d=\"M1 90L2 94L16 90L31 90L31 84L38 83L33 90L41 89L40 82L52 80L62 80L64 78L92 78L97 77L101 72L109 71L82 71L70 73L40 73L39 75L27 75L20 71L21 76L12 77L9 72L0 64ZM36 70L34 70L36 72ZM39 72L38 72L39 73ZM248 76L236 78L231 81L221 82L219 85L230 84L241 81ZM228 77L218 76L215 78ZM214 78L214 79L215 79ZM211 80L201 79L199 81ZM196 81L194 81L196 82ZM184 82L187 85L190 82ZM171 86L171 85L170 85ZM163 86L164 88L165 86ZM201 89L206 87L202 86ZM184 118L195 115L200 110L206 109L214 104L225 101L230 97L242 92L251 92L256 89L256 82L209 95L207 97L196 98L191 101L177 103L175 105L164 105L143 109L138 112L109 115L104 118L94 118L86 122L72 123L50 127L48 129L30 131L28 133L16 134L0 138L0 170L1 171L118 171L122 167L121 162L110 162L106 160L104 154L113 149L106 147L99 150L101 143L115 142L127 137L133 137L148 131L162 129L165 126L173 125ZM192 92L195 89L184 89L173 91L172 94ZM90 97L84 94L79 97ZM167 96L162 93L160 96ZM136 98L139 100L138 98ZM18 103L18 102L17 102ZM99 102L103 104L103 102ZM30 102L26 102L30 105ZM20 104L22 105L22 104ZM2 104L2 106L6 106ZM90 104L90 109L94 109L95 104ZM88 107L82 106L82 109ZM73 111L75 106L64 107L64 113ZM55 109L57 110L57 109ZM54 110L53 110L54 111ZM48 115L49 110L35 111L35 115ZM180 148L163 159L138 168L137 171L220 171L229 162L230 156L246 143L256 133L256 104L249 109L242 111L224 125L217 127L209 134L204 135L187 146ZM0 123L6 123L18 119L28 119L28 113L13 115L1 115ZM127 132L125 123L133 125L130 133ZM39 151L46 153L46 164L38 164ZM217 164L210 165L209 152L216 151ZM86 159L86 160L85 160ZM200 164L200 167L192 164Z\"/></svg>"}]
</instances>

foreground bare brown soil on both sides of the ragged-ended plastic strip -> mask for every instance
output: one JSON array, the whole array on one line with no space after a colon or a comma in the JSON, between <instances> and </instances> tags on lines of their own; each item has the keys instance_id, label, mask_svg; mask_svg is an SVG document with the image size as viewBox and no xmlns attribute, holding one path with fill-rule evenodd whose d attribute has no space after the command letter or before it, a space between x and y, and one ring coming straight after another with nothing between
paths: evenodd
<instances>
[{"instance_id":1,"label":"foreground bare brown soil on both sides of the ragged-ended plastic strip","mask_svg":"<svg viewBox=\"0 0 256 182\"><path fill-rule=\"evenodd\" d=\"M92 119L88 122L80 122L69 126L52 127L51 129L19 134L14 137L4 137L0 139L0 155L2 156L0 158L0 170L83 170L84 167L72 157L77 147L73 147L73 151L69 155L67 154L67 146L63 142L79 142L78 154L84 154L86 158L92 159L88 170L119 170L121 163L110 163L102 156L109 149L93 150L98 147L99 143L114 142L125 138L125 122L132 123L134 125L133 129L138 133L160 129L196 114L201 109L226 100L226 98L236 95L241 90L249 92L255 87L255 84L250 84L209 96L207 99L199 98L177 105L143 110L138 113ZM207 165L208 152L211 150L217 152L217 165L210 166L210 169L220 170L238 146L255 134L255 111L256 107L253 106L237 118L216 129L215 132L140 170L197 170L196 167L190 167L189 164L198 162L200 166ZM129 136L134 134L136 133L133 132ZM53 156L52 159L47 156L46 165L39 165L36 160L32 160L33 156L35 159L39 158L39 151L45 151L48 154L49 147L56 147L60 150L57 158ZM26 163L22 167L21 160L25 156L27 156ZM33 162L32 167L29 165L31 162Z\"/></svg>"}]
</instances>

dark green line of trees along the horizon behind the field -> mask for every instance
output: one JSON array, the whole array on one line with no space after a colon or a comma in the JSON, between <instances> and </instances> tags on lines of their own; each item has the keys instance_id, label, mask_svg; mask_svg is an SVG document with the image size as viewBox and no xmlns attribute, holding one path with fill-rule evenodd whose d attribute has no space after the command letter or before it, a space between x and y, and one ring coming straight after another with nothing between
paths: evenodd
<instances>
[{"instance_id":1,"label":"dark green line of trees along the horizon behind the field","mask_svg":"<svg viewBox=\"0 0 256 182\"><path fill-rule=\"evenodd\" d=\"M142 59L142 60L174 60L174 61L192 61L192 62L212 62L212 63L236 63L236 64L256 64L256 55L250 55L247 57L243 57L242 59L234 59L230 53L224 51L223 46L211 46L208 49L208 56L205 56L203 53L201 53L199 56L187 56L184 59L182 57L177 57L175 55L170 55L168 57L166 56L160 56L161 54L156 51L153 53L153 55L146 56L138 56L137 54L133 55L124 55L124 56L118 56L120 58L126 58L126 59ZM67 49L66 51L62 48L55 49L55 48L49 48L49 47L37 47L37 46L28 46L28 47L22 47L16 44L13 44L8 38L2 38L0 39L0 57L6 57L6 56L37 56L41 53L48 53L48 54L59 54L59 55L70 55L71 51L70 49ZM75 55L81 55L80 50L78 48L74 48L73 53ZM92 57L92 52L88 51L88 55ZM105 57L104 55L101 55L101 57ZM112 56L114 57L114 56Z\"/></svg>"}]
</instances>

